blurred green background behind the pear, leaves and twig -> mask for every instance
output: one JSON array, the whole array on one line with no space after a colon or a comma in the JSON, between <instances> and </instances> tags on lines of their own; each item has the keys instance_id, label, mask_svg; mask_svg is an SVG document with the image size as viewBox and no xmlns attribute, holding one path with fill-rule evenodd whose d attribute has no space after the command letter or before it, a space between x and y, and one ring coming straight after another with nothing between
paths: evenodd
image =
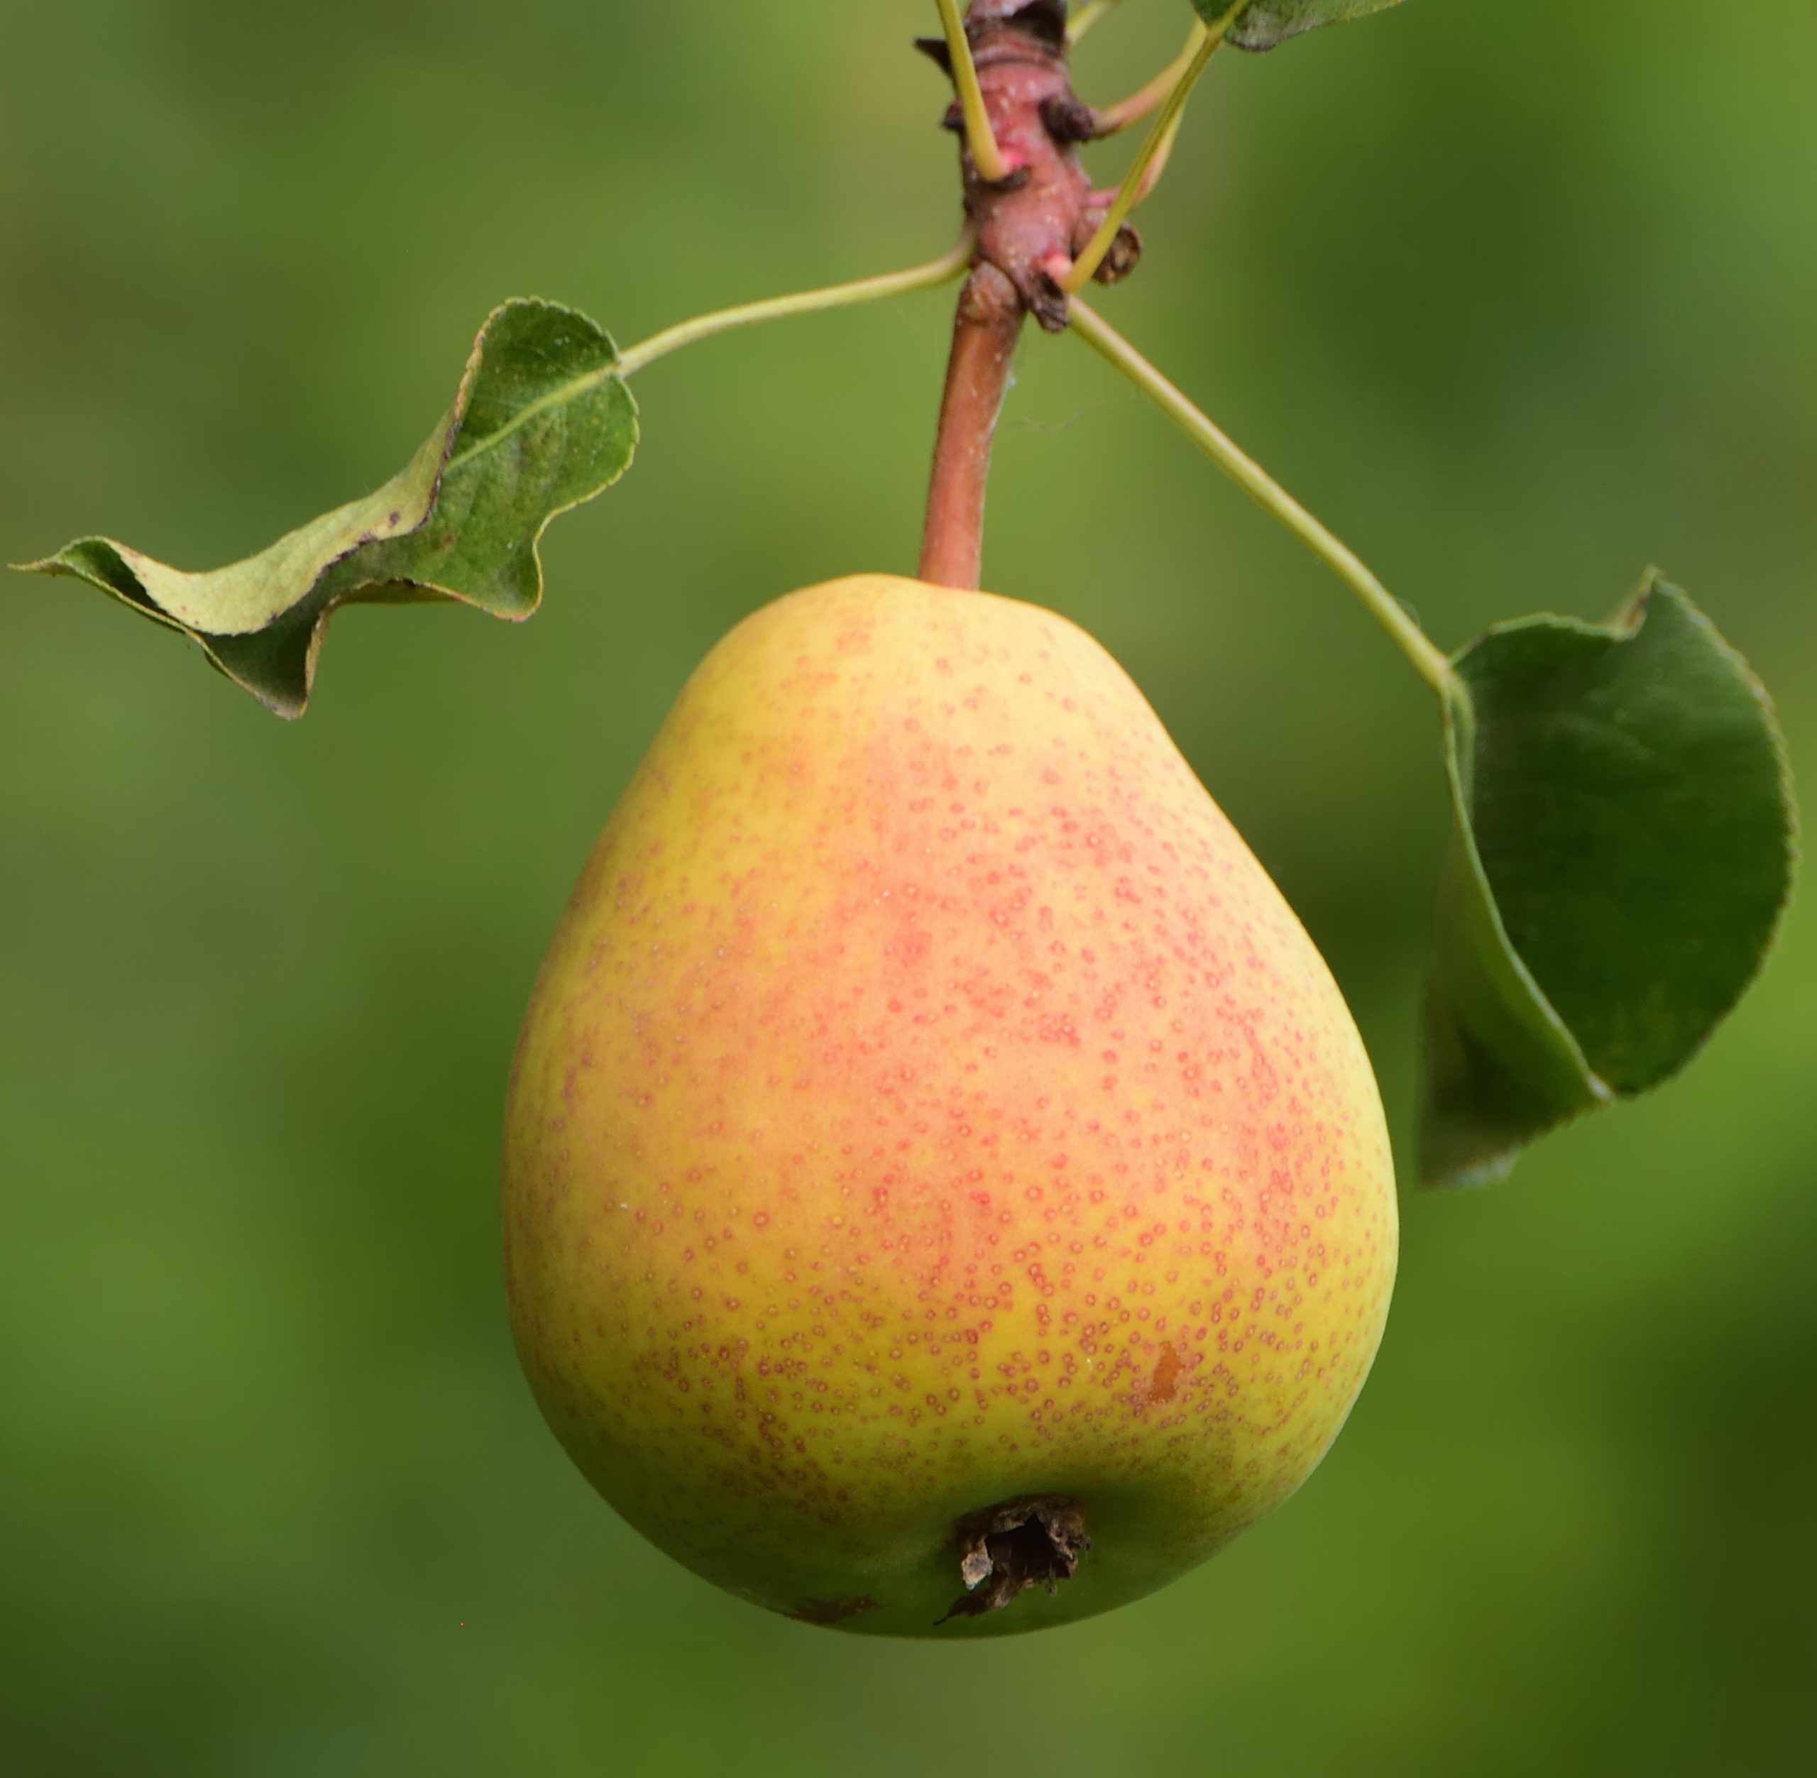
<instances>
[{"instance_id":1,"label":"blurred green background behind the pear, leaves and twig","mask_svg":"<svg viewBox=\"0 0 1817 1778\"><path fill-rule=\"evenodd\" d=\"M403 463L507 294L632 340L941 251L932 20L0 0L0 558L262 547ZM1185 24L1130 0L1081 87ZM1221 62L1103 307L1446 645L1657 559L1810 765L1813 94L1808 0L1414 0ZM912 568L948 300L649 370L545 612L343 616L300 726L0 583L0 1767L1817 1769L1808 906L1681 1084L1408 1197L1337 1451L1148 1604L965 1649L770 1620L543 1431L494 1233L532 972L707 647ZM1425 688L1072 343L1027 347L992 521L990 583L1105 639L1301 910L1406 1155Z\"/></svg>"}]
</instances>

